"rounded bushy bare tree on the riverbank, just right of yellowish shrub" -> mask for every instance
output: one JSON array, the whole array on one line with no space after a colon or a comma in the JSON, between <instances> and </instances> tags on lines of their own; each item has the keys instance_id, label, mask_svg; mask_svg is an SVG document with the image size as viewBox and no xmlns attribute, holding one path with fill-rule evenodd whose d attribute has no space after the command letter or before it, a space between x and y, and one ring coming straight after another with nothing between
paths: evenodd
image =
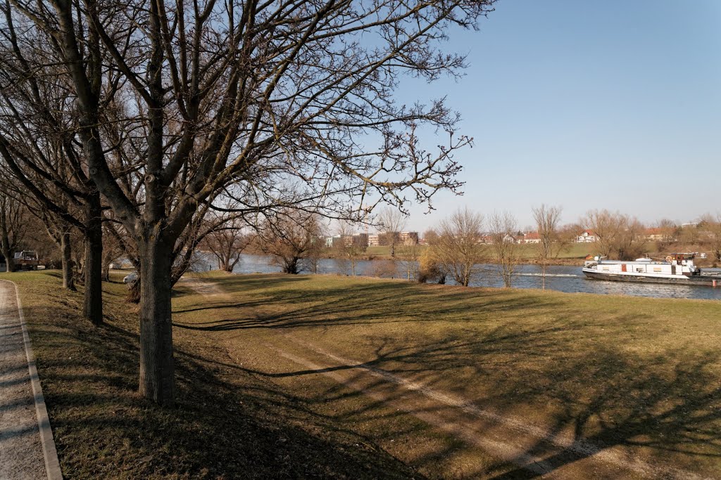
<instances>
[{"instance_id":1,"label":"rounded bushy bare tree on the riverbank, just right of yellowish shrub","mask_svg":"<svg viewBox=\"0 0 721 480\"><path fill-rule=\"evenodd\" d=\"M468 286L484 256L481 244L483 217L467 207L458 209L438 225L438 237L430 243L439 270L456 283Z\"/></svg>"}]
</instances>

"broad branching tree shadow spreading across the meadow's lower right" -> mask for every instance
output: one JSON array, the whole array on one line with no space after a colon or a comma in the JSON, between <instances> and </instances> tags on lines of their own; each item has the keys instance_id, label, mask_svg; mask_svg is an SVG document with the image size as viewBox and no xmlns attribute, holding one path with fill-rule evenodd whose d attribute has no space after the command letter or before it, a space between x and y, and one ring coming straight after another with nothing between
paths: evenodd
<instances>
[{"instance_id":1,"label":"broad branching tree shadow spreading across the meadow's lower right","mask_svg":"<svg viewBox=\"0 0 721 480\"><path fill-rule=\"evenodd\" d=\"M685 478L699 474L715 478L721 474L721 358L717 353L699 354L683 363L671 361L671 371L667 371L659 367L668 365L674 353L684 358L686 352L642 358L598 348L585 358L529 368L528 357L542 358L563 348L548 340L549 335L557 335L557 331L532 330L519 335L497 331L481 341L449 340L404 349L386 346L386 353L363 363L316 372L304 369L289 375L348 370L357 372L349 377L352 382L369 369L392 373L422 385L420 396L427 397L416 402L418 395L409 395L400 386L397 393L386 397L386 407L397 400L396 405L410 406L410 415L420 415L421 419L435 415L441 422L456 422L460 430L467 427L481 437L490 432L490 438L508 445L514 445L517 438L527 440L523 442L525 448L512 448L513 454L502 461L477 470L466 468L458 474L463 478L535 478L559 468L565 468L567 474L571 468L576 478L603 476L604 469L617 477ZM517 374L494 374L503 361L511 364L509 371L517 369ZM462 385L473 379L485 383L482 394L475 394L469 404L461 404L463 409L470 405L469 411L459 413L459 404L429 401L424 393L430 391L433 400L433 392L453 391L445 379L456 375L455 385L461 386L461 392ZM364 385L364 394L389 389L389 381L377 376ZM345 395L342 390L325 390L317 401L340 401ZM339 396L335 400L334 394ZM457 398L464 398L464 394ZM371 404L335 422L370 422L379 412L380 407ZM412 435L420 433L415 430ZM382 435L371 438L381 441ZM472 451L463 437L456 435L455 439L415 459L412 465L438 474L439 461L455 455L462 458ZM591 463L583 463L585 459Z\"/></svg>"}]
</instances>

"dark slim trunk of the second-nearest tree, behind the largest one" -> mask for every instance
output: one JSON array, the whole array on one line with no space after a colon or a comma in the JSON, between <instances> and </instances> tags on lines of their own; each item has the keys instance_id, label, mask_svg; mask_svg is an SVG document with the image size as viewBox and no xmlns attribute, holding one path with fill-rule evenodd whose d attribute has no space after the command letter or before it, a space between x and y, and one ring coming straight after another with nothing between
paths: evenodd
<instances>
[{"instance_id":1,"label":"dark slim trunk of the second-nearest tree, behind the largest one","mask_svg":"<svg viewBox=\"0 0 721 480\"><path fill-rule=\"evenodd\" d=\"M100 194L89 196L86 207L85 260L83 275L85 299L83 317L94 325L102 323L102 210Z\"/></svg>"}]
</instances>

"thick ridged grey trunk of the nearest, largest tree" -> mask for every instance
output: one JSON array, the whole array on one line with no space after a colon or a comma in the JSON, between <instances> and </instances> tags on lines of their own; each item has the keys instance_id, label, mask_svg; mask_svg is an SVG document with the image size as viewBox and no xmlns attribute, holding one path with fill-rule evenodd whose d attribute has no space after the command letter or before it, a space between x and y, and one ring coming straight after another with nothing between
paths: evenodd
<instances>
[{"instance_id":1,"label":"thick ridged grey trunk of the nearest, largest tree","mask_svg":"<svg viewBox=\"0 0 721 480\"><path fill-rule=\"evenodd\" d=\"M141 271L140 393L162 405L174 404L173 337L170 306L172 245L148 229L138 242Z\"/></svg>"}]
</instances>

